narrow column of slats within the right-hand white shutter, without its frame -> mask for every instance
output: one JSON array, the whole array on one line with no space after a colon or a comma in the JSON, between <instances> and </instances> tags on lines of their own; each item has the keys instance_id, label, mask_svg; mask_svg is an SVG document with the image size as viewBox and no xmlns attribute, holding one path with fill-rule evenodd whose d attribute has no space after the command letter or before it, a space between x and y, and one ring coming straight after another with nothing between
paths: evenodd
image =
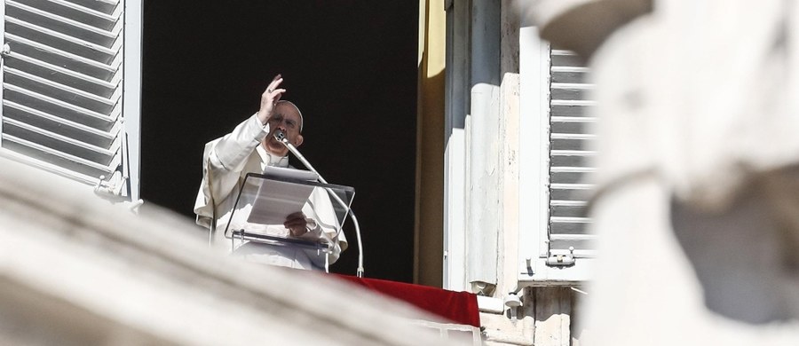
<instances>
[{"instance_id":1,"label":"narrow column of slats within the right-hand white shutter, without its frame","mask_svg":"<svg viewBox=\"0 0 799 346\"><path fill-rule=\"evenodd\" d=\"M574 52L550 50L549 256L550 265L571 265L595 256L586 232L590 223L586 202L593 185L586 177L595 169L593 106L586 79L589 73Z\"/></svg>"}]
</instances>

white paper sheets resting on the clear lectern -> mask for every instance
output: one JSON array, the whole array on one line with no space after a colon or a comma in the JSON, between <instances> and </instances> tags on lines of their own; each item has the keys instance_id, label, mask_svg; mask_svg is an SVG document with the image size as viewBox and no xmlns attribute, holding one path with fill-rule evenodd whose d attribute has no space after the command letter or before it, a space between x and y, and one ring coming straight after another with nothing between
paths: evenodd
<instances>
[{"instance_id":1,"label":"white paper sheets resting on the clear lectern","mask_svg":"<svg viewBox=\"0 0 799 346\"><path fill-rule=\"evenodd\" d=\"M264 174L292 179L316 180L316 173L300 169L267 167ZM256 199L249 213L250 224L283 224L286 216L303 210L314 189L313 185L264 180L258 187Z\"/></svg>"}]
</instances>

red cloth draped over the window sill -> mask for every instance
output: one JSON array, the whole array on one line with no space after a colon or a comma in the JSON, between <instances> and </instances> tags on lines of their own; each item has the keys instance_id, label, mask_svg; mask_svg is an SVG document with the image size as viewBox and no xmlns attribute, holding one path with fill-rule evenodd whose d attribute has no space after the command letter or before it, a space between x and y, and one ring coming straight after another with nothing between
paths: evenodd
<instances>
[{"instance_id":1,"label":"red cloth draped over the window sill","mask_svg":"<svg viewBox=\"0 0 799 346\"><path fill-rule=\"evenodd\" d=\"M365 279L340 274L336 274L336 277L413 304L419 309L447 318L454 323L480 326L477 295L382 279Z\"/></svg>"}]
</instances>

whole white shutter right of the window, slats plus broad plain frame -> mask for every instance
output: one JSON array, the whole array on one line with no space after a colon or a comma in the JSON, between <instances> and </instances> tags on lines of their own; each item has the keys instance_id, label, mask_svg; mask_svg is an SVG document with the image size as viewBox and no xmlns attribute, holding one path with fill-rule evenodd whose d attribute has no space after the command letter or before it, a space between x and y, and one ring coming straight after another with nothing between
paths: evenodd
<instances>
[{"instance_id":1,"label":"whole white shutter right of the window, slats plus broad plain frame","mask_svg":"<svg viewBox=\"0 0 799 346\"><path fill-rule=\"evenodd\" d=\"M573 285L591 279L594 235L586 227L596 140L589 70L551 49L535 27L519 30L518 281Z\"/></svg>"}]
</instances>

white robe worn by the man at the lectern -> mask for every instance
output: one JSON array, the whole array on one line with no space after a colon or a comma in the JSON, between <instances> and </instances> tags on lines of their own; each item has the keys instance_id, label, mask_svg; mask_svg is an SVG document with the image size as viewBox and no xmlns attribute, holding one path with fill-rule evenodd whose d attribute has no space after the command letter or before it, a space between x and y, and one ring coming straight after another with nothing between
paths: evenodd
<instances>
[{"instance_id":1,"label":"white robe worn by the man at the lectern","mask_svg":"<svg viewBox=\"0 0 799 346\"><path fill-rule=\"evenodd\" d=\"M266 152L261 142L269 133L269 124L262 125L256 115L241 122L233 132L225 137L217 138L205 145L202 154L202 184L194 202L194 214L197 224L211 227L216 217L216 232L213 240L214 248L225 249L233 256L242 256L250 262L280 265L299 269L323 269L326 261L335 263L341 251L347 248L344 232L336 232L339 224L331 201L324 189L313 190L309 201L305 203L303 212L311 218L316 227L300 236L301 240L324 240L332 245L328 258L317 250L297 248L293 246L275 246L255 242L234 242L225 240L227 224L246 227L243 217L249 215L252 201L247 198L239 201L238 196L247 173L261 173L267 166L289 167L287 156L276 156ZM248 183L254 181L248 179ZM231 220L233 215L233 220ZM311 223L313 224L313 223ZM259 232L269 235L289 236L289 230L280 225L259 227Z\"/></svg>"}]
</instances>

